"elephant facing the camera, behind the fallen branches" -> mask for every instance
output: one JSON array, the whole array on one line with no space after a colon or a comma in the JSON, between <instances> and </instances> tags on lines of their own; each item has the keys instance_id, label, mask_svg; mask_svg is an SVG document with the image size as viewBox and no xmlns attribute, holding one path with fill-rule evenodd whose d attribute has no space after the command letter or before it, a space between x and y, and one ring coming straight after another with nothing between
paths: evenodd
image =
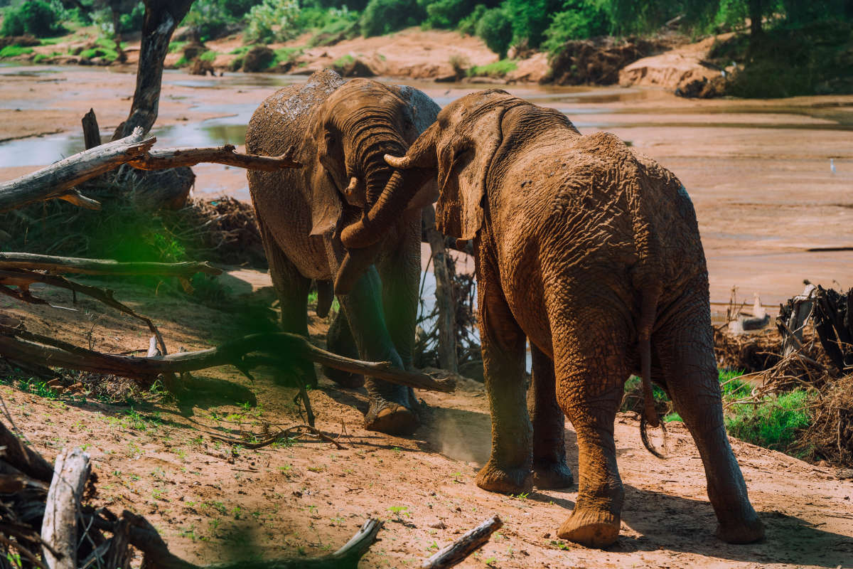
<instances>
[{"instance_id":1,"label":"elephant facing the camera, behind the fallen branches","mask_svg":"<svg viewBox=\"0 0 853 569\"><path fill-rule=\"evenodd\" d=\"M347 254L339 232L359 218L392 180L386 153L403 154L439 107L420 90L358 78L345 81L331 70L314 73L302 85L269 96L253 113L247 152L290 154L302 168L248 171L270 276L281 305L281 328L308 336L307 299L316 282L317 312L332 304L331 279L342 265L359 275L338 294L342 310L328 334L328 347L346 356L412 367L418 283L421 274L421 209L398 212L381 241L361 255ZM427 177L409 179L434 195ZM430 188L430 186L433 186ZM316 372L308 372L316 385ZM368 430L412 433L418 427L412 390L383 380L327 375L343 386L364 384Z\"/></svg>"}]
</instances>

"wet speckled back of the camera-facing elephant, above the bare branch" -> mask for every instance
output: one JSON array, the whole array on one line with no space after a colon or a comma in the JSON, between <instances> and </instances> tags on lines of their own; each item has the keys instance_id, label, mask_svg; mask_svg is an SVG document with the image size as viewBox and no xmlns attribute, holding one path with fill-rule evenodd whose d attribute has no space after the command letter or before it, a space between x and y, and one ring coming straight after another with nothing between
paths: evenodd
<instances>
[{"instance_id":1,"label":"wet speckled back of the camera-facing elephant, above the bare branch","mask_svg":"<svg viewBox=\"0 0 853 569\"><path fill-rule=\"evenodd\" d=\"M290 85L268 96L252 114L246 131L246 150L277 156L293 146L299 153L311 116L345 80L331 69L313 73L305 84Z\"/></svg>"}]
</instances>

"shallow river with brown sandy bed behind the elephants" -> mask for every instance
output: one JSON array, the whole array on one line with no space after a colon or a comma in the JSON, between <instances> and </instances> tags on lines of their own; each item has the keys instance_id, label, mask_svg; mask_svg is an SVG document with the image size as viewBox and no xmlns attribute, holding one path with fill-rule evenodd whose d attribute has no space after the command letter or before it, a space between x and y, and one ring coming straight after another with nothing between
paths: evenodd
<instances>
[{"instance_id":1,"label":"shallow river with brown sandy bed behind the elephants","mask_svg":"<svg viewBox=\"0 0 853 569\"><path fill-rule=\"evenodd\" d=\"M258 103L302 81L166 71L158 145L240 145ZM442 106L492 86L389 82ZM133 84L132 73L110 69L0 67L0 140L12 139L0 142L0 181L81 150L78 120L90 106L110 136ZM613 132L676 173L696 206L715 309L724 310L732 287L739 300L751 304L758 293L769 306L800 292L804 279L853 287L853 96L699 101L649 88L502 88L559 109L584 134ZM244 171L194 170L195 195L249 199Z\"/></svg>"}]
</instances>

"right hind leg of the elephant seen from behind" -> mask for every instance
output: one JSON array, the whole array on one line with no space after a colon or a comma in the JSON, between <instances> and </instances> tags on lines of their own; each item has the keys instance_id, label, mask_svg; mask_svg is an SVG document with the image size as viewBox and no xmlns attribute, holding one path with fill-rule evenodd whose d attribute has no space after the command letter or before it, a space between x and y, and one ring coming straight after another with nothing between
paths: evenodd
<instances>
[{"instance_id":1,"label":"right hind leg of the elephant seen from behind","mask_svg":"<svg viewBox=\"0 0 853 569\"><path fill-rule=\"evenodd\" d=\"M672 402L705 466L708 498L719 522L717 537L728 543L751 543L764 536L764 527L749 502L746 482L728 444L707 297L699 306L664 327L653 344Z\"/></svg>"}]
</instances>

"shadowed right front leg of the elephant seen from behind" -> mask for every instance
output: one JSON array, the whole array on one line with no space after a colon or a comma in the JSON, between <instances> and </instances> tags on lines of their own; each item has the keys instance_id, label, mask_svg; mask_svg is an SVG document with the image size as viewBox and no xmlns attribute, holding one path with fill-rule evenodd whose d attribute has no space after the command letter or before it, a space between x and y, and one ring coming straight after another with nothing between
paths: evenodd
<instances>
[{"instance_id":1,"label":"shadowed right front leg of the elephant seen from behind","mask_svg":"<svg viewBox=\"0 0 853 569\"><path fill-rule=\"evenodd\" d=\"M527 407L533 424L533 484L537 488L568 488L574 483L566 464L566 415L557 404L554 361L531 342L533 379Z\"/></svg>"}]
</instances>

